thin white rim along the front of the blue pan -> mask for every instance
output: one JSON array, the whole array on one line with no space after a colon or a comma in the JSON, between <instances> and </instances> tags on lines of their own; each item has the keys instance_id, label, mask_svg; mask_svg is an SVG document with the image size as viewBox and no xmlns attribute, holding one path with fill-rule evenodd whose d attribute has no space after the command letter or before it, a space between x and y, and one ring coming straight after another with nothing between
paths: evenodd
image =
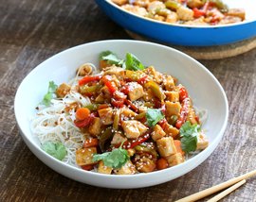
<instances>
[{"instance_id":1,"label":"thin white rim along the front of the blue pan","mask_svg":"<svg viewBox=\"0 0 256 202\"><path fill-rule=\"evenodd\" d=\"M115 3L113 3L111 0L103 0L105 1L110 7L114 7L119 9L119 11L124 12L128 15L132 15L136 18L139 18L140 20L144 20L144 21L148 21L151 22L153 24L158 24L158 25L167 25L167 26L176 26L176 27L181 27L181 28L202 28L202 29L212 29L212 28L226 28L226 27L233 27L233 26L238 26L238 25L247 25L253 22L256 22L256 19L250 19L250 20L245 20L239 23L235 23L235 24L228 24L228 25L182 25L182 24L171 24L171 23L166 23L166 22L162 22L162 21L157 21L155 19L151 19L151 18L146 18L140 15L137 15L133 12L129 12L128 10L122 9L120 8L118 5L116 5Z\"/></svg>"}]
</instances>

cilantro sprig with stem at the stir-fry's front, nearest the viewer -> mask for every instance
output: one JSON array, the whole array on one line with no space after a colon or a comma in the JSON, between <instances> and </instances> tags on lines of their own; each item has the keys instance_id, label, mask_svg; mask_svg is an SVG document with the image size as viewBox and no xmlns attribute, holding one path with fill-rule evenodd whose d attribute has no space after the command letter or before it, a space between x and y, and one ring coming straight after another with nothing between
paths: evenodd
<instances>
[{"instance_id":1,"label":"cilantro sprig with stem at the stir-fry's front, nearest the viewer","mask_svg":"<svg viewBox=\"0 0 256 202\"><path fill-rule=\"evenodd\" d=\"M127 160L129 160L128 152L125 149L119 147L111 152L105 152L103 154L95 154L93 161L103 160L104 165L112 168L120 168Z\"/></svg>"}]
</instances>

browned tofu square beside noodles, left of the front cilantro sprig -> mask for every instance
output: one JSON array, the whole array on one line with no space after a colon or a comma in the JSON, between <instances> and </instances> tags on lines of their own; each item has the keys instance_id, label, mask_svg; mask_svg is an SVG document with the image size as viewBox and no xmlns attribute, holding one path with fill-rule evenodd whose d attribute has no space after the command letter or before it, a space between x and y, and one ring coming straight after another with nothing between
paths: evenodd
<instances>
[{"instance_id":1,"label":"browned tofu square beside noodles, left of the front cilantro sprig","mask_svg":"<svg viewBox=\"0 0 256 202\"><path fill-rule=\"evenodd\" d=\"M96 147L82 148L76 151L76 161L78 165L94 164L93 155L97 154Z\"/></svg>"}]
</instances>

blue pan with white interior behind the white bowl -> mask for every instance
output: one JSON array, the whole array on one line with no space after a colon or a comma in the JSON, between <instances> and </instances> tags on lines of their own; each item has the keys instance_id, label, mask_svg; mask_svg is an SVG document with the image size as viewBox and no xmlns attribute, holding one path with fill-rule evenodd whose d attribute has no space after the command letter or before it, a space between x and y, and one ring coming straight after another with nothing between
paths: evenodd
<instances>
[{"instance_id":1,"label":"blue pan with white interior behind the white bowl","mask_svg":"<svg viewBox=\"0 0 256 202\"><path fill-rule=\"evenodd\" d=\"M245 8L247 20L233 25L175 25L130 13L110 0L96 0L104 12L125 29L158 42L184 46L213 46L240 42L256 36L255 0L224 0L230 8Z\"/></svg>"}]
</instances>

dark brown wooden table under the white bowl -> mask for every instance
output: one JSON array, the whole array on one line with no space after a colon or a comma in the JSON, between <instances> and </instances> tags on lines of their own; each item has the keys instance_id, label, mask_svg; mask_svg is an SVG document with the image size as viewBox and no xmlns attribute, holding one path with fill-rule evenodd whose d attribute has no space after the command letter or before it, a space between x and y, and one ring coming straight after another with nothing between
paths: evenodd
<instances>
[{"instance_id":1,"label":"dark brown wooden table under the white bowl","mask_svg":"<svg viewBox=\"0 0 256 202\"><path fill-rule=\"evenodd\" d=\"M84 42L129 39L92 0L0 0L0 201L174 201L256 168L256 49L202 60L229 99L229 125L208 160L145 189L110 190L63 177L23 142L13 112L22 79L40 62ZM256 201L256 178L223 201Z\"/></svg>"}]
</instances>

